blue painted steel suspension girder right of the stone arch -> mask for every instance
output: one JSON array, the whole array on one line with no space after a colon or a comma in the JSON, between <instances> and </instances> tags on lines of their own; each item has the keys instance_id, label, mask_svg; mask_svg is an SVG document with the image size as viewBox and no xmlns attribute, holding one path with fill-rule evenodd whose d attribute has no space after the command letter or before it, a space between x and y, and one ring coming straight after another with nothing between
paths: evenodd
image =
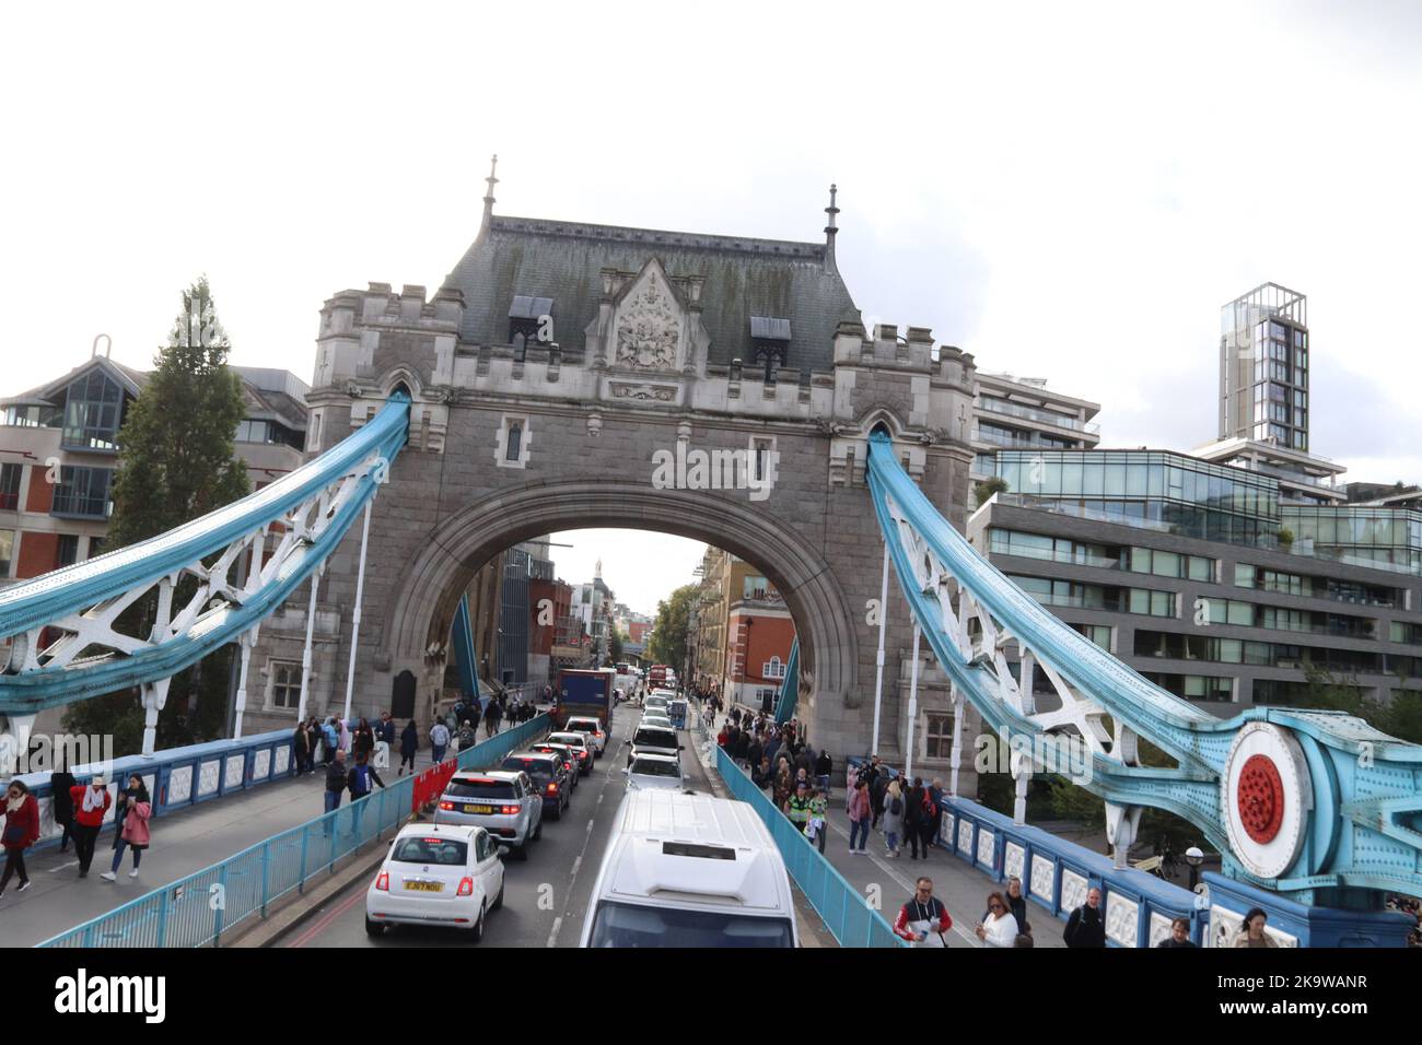
<instances>
[{"instance_id":1,"label":"blue painted steel suspension girder right of the stone arch","mask_svg":"<svg viewBox=\"0 0 1422 1045\"><path fill-rule=\"evenodd\" d=\"M889 438L877 432L870 436L869 485L914 618L954 685L998 735L1035 736L1042 729L998 698L991 661L968 661L946 631L939 567L929 554L1074 691L1177 762L1150 769L1094 755L1092 779L1084 783L1089 791L1116 805L1183 816L1226 856L1229 874L1278 891L1311 899L1318 889L1416 893L1422 887L1422 748L1341 712L1257 707L1231 719L1202 712L1146 681L1004 577L933 508L899 465ZM924 562L912 560L890 500L927 549ZM1231 799L1223 798L1230 785L1221 778L1251 724L1285 731L1307 765L1301 843L1288 867L1274 876L1244 866L1231 850L1226 825L1224 806Z\"/></svg>"}]
</instances>

